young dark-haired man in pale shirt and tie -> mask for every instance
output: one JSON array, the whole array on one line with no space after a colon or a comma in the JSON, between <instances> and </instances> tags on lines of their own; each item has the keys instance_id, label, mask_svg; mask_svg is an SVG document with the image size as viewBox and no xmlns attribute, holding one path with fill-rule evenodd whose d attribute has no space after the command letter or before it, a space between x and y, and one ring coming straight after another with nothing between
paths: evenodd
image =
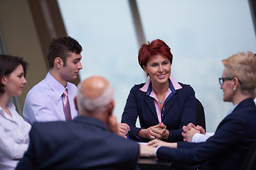
<instances>
[{"instance_id":1,"label":"young dark-haired man in pale shirt and tie","mask_svg":"<svg viewBox=\"0 0 256 170\"><path fill-rule=\"evenodd\" d=\"M49 72L46 79L28 91L23 108L24 120L30 124L35 121L65 121L78 115L74 103L78 89L68 81L76 79L82 69L81 52L79 42L70 37L55 38L50 42L47 54ZM63 108L64 91L68 91L68 116Z\"/></svg>"}]
</instances>

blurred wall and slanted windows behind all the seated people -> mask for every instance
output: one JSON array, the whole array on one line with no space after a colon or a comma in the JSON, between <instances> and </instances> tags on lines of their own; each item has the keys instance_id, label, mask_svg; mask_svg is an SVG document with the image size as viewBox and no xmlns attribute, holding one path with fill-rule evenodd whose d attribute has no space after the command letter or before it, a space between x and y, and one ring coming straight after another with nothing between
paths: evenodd
<instances>
[{"instance_id":1,"label":"blurred wall and slanted windows behind all the seated people","mask_svg":"<svg viewBox=\"0 0 256 170\"><path fill-rule=\"evenodd\" d=\"M161 39L174 55L171 75L196 91L213 132L232 106L218 83L221 60L256 53L255 6L251 0L0 0L0 52L29 62L16 107L22 113L28 90L46 76L50 40L70 35L83 48L83 69L73 83L93 75L109 79L120 122L129 90L146 81L139 47Z\"/></svg>"}]
</instances>

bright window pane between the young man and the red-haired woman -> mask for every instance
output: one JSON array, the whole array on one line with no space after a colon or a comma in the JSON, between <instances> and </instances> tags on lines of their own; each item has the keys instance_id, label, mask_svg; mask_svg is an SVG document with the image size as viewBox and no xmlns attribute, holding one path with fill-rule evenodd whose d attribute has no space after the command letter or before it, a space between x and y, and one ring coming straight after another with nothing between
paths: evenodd
<instances>
[{"instance_id":1,"label":"bright window pane between the young man and the red-haired woman","mask_svg":"<svg viewBox=\"0 0 256 170\"><path fill-rule=\"evenodd\" d=\"M80 79L93 75L114 86L114 115L121 121L129 90L146 81L126 0L58 1L68 35L83 48Z\"/></svg>"}]
</instances>

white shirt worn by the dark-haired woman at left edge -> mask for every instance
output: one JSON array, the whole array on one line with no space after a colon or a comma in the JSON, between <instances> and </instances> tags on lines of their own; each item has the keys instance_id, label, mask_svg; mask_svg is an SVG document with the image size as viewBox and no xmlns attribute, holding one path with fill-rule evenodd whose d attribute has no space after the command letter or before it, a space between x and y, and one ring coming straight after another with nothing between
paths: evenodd
<instances>
[{"instance_id":1,"label":"white shirt worn by the dark-haired woman at left edge","mask_svg":"<svg viewBox=\"0 0 256 170\"><path fill-rule=\"evenodd\" d=\"M13 103L7 103L11 115L0 107L0 169L15 169L18 160L28 149L31 125L18 115Z\"/></svg>"}]
</instances>

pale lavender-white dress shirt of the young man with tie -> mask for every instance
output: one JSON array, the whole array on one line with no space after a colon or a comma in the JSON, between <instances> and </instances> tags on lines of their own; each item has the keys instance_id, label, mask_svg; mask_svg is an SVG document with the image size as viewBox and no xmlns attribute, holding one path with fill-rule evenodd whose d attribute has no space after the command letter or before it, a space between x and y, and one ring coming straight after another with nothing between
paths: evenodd
<instances>
[{"instance_id":1,"label":"pale lavender-white dress shirt of the young man with tie","mask_svg":"<svg viewBox=\"0 0 256 170\"><path fill-rule=\"evenodd\" d=\"M62 97L65 89L68 89L71 117L72 119L75 118L78 111L75 109L74 98L77 96L78 88L75 84L69 82L64 87L48 72L46 79L43 79L28 91L23 108L24 120L30 124L35 121L65 121Z\"/></svg>"}]
</instances>

